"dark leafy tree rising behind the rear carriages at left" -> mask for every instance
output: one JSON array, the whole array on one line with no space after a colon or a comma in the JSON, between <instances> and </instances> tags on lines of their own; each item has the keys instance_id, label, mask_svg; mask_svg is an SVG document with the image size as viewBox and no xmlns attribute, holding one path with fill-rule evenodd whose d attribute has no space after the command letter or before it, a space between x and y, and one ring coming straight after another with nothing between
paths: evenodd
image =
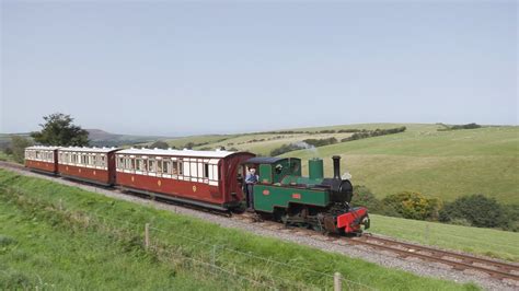
<instances>
[{"instance_id":1,"label":"dark leafy tree rising behind the rear carriages at left","mask_svg":"<svg viewBox=\"0 0 519 291\"><path fill-rule=\"evenodd\" d=\"M45 124L39 124L42 131L31 132L34 141L45 146L89 146L89 131L72 124L70 115L55 113L44 116Z\"/></svg>"}]
</instances>

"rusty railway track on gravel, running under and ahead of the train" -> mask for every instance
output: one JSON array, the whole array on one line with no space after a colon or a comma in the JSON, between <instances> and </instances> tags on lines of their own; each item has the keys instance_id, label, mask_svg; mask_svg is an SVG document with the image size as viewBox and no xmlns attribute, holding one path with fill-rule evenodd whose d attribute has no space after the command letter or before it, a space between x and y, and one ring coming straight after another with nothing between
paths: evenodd
<instances>
[{"instance_id":1,"label":"rusty railway track on gravel, running under and ahead of the train","mask_svg":"<svg viewBox=\"0 0 519 291\"><path fill-rule=\"evenodd\" d=\"M13 164L9 162L0 161L0 166L28 172L28 170L25 168L23 165ZM78 184L81 185L82 183L78 183ZM114 189L114 190L120 191L119 189ZM141 195L137 195L137 196L141 196ZM196 209L193 207L187 207L187 208ZM519 286L519 265L518 264L504 263L504 261L498 261L491 258L476 257L476 256L472 256L468 254L439 249L439 248L435 248L430 246L401 242L397 240L381 237L381 236L369 234L369 233L366 233L365 235L360 237L344 237L344 236L336 236L336 235L326 236L312 230L287 226L281 223L273 222L273 221L264 221L260 219L257 216L255 216L254 213L247 213L247 212L232 213L232 214L220 213L220 214L229 217L230 219L233 219L233 220L239 220L239 221L249 222L249 223L257 223L262 228L268 229L268 230L290 232L296 235L308 235L308 236L315 237L318 240L327 241L327 242L338 244L338 245L362 245L366 247L370 247L372 249L390 252L403 258L413 257L413 258L419 258L425 261L439 263L442 265L450 266L452 269L455 269L455 270L477 271L477 272L486 273L491 276L492 278L495 278L498 280L512 280L512 282L516 286Z\"/></svg>"}]
</instances>

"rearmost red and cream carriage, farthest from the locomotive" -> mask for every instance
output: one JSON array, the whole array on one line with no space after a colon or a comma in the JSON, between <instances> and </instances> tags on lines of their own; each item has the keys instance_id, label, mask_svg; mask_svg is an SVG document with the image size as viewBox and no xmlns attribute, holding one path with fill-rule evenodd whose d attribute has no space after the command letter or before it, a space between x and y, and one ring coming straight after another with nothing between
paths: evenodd
<instances>
[{"instance_id":1,"label":"rearmost red and cream carriage, farthest from the locomotive","mask_svg":"<svg viewBox=\"0 0 519 291\"><path fill-rule=\"evenodd\" d=\"M25 149L25 166L31 171L58 173L57 151L59 147L35 146Z\"/></svg>"}]
</instances>

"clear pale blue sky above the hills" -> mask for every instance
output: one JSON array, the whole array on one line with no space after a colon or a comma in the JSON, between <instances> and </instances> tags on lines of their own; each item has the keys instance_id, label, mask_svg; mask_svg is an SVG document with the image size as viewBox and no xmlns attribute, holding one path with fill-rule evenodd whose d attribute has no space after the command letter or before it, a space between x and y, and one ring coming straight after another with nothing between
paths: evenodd
<instances>
[{"instance_id":1,"label":"clear pale blue sky above the hills","mask_svg":"<svg viewBox=\"0 0 519 291\"><path fill-rule=\"evenodd\" d=\"M518 124L516 1L0 1L0 132Z\"/></svg>"}]
</instances>

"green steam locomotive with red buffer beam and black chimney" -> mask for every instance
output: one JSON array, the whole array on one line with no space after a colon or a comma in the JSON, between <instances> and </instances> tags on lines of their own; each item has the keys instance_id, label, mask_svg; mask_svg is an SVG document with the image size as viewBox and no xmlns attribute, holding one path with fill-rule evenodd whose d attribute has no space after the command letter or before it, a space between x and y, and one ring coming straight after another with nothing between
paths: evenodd
<instances>
[{"instance_id":1,"label":"green steam locomotive with red buffer beam and black chimney","mask_svg":"<svg viewBox=\"0 0 519 291\"><path fill-rule=\"evenodd\" d=\"M310 226L328 233L360 233L369 228L368 210L350 207L349 176L341 177L341 156L333 156L334 176L323 175L323 160L309 161L309 176L301 176L296 158L252 158L247 164L260 170L254 185L254 209L262 217L285 224Z\"/></svg>"}]
</instances>

